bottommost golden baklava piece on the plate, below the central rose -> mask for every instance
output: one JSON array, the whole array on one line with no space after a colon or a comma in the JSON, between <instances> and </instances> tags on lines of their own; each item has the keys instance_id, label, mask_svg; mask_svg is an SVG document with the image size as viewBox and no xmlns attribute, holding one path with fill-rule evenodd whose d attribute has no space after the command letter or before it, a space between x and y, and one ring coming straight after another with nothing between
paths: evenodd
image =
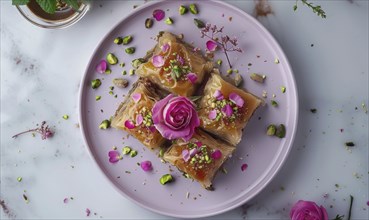
<instances>
[{"instance_id":1,"label":"bottommost golden baklava piece on the plate, below the central rose","mask_svg":"<svg viewBox=\"0 0 369 220\"><path fill-rule=\"evenodd\" d=\"M188 142L176 140L163 159L211 190L215 174L234 150L235 147L198 129Z\"/></svg>"}]
</instances>

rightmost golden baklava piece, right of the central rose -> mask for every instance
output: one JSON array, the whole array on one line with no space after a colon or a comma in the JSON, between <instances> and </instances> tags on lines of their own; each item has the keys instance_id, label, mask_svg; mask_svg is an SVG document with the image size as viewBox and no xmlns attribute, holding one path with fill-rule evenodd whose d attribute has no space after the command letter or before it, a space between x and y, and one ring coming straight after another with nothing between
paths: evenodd
<instances>
[{"instance_id":1,"label":"rightmost golden baklava piece, right of the central rose","mask_svg":"<svg viewBox=\"0 0 369 220\"><path fill-rule=\"evenodd\" d=\"M212 73L200 101L201 127L236 146L262 100Z\"/></svg>"}]
</instances>

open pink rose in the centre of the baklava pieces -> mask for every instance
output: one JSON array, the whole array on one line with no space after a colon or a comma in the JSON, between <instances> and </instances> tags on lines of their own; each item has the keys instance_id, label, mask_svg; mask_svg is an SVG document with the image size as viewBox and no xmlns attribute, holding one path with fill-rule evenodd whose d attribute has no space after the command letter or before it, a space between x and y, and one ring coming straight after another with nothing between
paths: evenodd
<instances>
[{"instance_id":1,"label":"open pink rose in the centre of the baklava pieces","mask_svg":"<svg viewBox=\"0 0 369 220\"><path fill-rule=\"evenodd\" d=\"M155 103L152 119L155 128L169 140L182 138L188 141L200 125L195 104L186 97L172 94Z\"/></svg>"}]
</instances>

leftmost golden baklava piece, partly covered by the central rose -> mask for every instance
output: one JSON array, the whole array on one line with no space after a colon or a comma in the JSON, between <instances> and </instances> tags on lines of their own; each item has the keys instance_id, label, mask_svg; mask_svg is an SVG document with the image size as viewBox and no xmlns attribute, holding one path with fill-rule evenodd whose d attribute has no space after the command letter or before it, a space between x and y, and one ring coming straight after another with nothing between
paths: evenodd
<instances>
[{"instance_id":1,"label":"leftmost golden baklava piece, partly covered by the central rose","mask_svg":"<svg viewBox=\"0 0 369 220\"><path fill-rule=\"evenodd\" d=\"M160 148L165 139L155 129L151 112L160 98L161 94L153 83L139 79L116 111L112 127L127 131L151 150Z\"/></svg>"}]
</instances>

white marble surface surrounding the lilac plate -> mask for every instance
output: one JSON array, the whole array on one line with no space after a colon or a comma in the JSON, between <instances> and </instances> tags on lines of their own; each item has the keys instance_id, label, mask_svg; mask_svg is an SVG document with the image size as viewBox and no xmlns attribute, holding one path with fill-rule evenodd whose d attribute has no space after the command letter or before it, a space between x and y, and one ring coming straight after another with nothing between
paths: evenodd
<instances>
[{"instance_id":1,"label":"white marble surface surrounding the lilac plate","mask_svg":"<svg viewBox=\"0 0 369 220\"><path fill-rule=\"evenodd\" d=\"M229 3L253 13L253 1ZM324 205L330 218L347 216L349 195L355 198L352 219L369 218L368 114L361 107L368 105L368 1L316 3L326 19L301 5L293 12L294 1L271 1L274 14L259 18L295 73L297 137L271 184L215 219L286 219L299 199ZM76 127L79 83L92 51L136 4L143 2L95 1L76 25L45 30L28 23L10 1L1 1L1 218L167 218L116 192L88 156ZM55 130L53 138L11 138L43 120ZM346 141L355 143L351 151ZM66 197L74 200L64 204Z\"/></svg>"}]
</instances>

